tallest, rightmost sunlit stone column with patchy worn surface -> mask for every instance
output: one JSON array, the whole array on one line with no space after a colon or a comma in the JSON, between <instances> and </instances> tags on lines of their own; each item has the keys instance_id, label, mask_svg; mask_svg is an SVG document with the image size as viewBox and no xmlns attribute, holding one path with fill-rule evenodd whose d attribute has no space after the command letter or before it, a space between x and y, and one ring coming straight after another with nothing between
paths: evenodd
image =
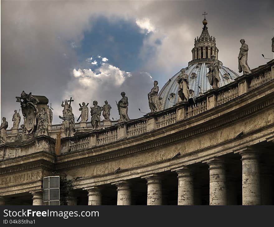
<instances>
[{"instance_id":1,"label":"tallest, rightmost sunlit stone column with patchy worn surface","mask_svg":"<svg viewBox=\"0 0 274 227\"><path fill-rule=\"evenodd\" d=\"M241 151L243 205L261 205L259 155L254 150Z\"/></svg>"}]
</instances>

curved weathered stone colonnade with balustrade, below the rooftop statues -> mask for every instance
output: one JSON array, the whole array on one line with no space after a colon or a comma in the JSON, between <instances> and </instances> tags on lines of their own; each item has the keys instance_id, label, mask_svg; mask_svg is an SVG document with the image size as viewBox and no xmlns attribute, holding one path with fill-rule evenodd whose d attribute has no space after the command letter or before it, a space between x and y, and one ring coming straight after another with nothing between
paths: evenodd
<instances>
[{"instance_id":1,"label":"curved weathered stone colonnade with balustrade, below the rooftop statues","mask_svg":"<svg viewBox=\"0 0 274 227\"><path fill-rule=\"evenodd\" d=\"M88 126L62 138L59 155L46 135L0 145L0 202L41 205L42 178L59 175L67 205L273 204L273 68L274 60L195 104Z\"/></svg>"}]
</instances>

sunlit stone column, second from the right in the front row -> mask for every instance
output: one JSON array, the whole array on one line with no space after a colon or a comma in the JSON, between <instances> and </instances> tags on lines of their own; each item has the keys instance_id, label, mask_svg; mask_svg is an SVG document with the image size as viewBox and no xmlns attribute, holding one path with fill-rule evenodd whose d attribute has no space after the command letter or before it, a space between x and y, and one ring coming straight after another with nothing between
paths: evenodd
<instances>
[{"instance_id":1,"label":"sunlit stone column, second from the right in the front row","mask_svg":"<svg viewBox=\"0 0 274 227\"><path fill-rule=\"evenodd\" d=\"M209 165L209 205L227 205L224 162L214 158Z\"/></svg>"}]
</instances>

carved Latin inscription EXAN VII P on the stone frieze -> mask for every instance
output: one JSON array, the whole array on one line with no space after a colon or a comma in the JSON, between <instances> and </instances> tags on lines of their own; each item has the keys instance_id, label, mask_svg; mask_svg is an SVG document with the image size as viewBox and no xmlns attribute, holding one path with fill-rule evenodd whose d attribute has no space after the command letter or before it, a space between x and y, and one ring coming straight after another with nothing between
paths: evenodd
<instances>
[{"instance_id":1,"label":"carved Latin inscription EXAN VII P on the stone frieze","mask_svg":"<svg viewBox=\"0 0 274 227\"><path fill-rule=\"evenodd\" d=\"M12 174L0 177L0 188L20 183L27 183L41 179L41 171L30 171L21 174Z\"/></svg>"}]
</instances>

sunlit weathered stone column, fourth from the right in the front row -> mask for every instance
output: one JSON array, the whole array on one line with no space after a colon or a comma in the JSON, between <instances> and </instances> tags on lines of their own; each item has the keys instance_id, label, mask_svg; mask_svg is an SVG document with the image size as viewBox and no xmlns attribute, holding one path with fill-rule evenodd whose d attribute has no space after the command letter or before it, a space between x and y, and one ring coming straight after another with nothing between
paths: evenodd
<instances>
[{"instance_id":1,"label":"sunlit weathered stone column, fourth from the right in the front row","mask_svg":"<svg viewBox=\"0 0 274 227\"><path fill-rule=\"evenodd\" d=\"M146 177L148 185L147 205L162 205L162 181L158 174Z\"/></svg>"}]
</instances>

